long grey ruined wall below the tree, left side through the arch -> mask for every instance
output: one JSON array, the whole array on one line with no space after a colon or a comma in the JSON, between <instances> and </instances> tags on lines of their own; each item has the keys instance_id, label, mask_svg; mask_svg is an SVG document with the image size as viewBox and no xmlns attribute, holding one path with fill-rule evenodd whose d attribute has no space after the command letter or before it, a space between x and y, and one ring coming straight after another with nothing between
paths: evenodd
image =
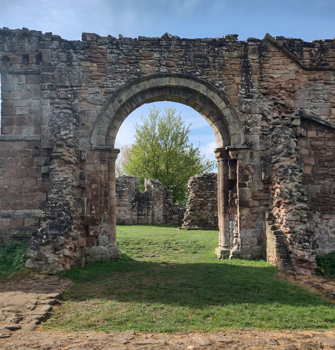
<instances>
[{"instance_id":1,"label":"long grey ruined wall below the tree, left side through the arch","mask_svg":"<svg viewBox=\"0 0 335 350\"><path fill-rule=\"evenodd\" d=\"M173 204L172 191L158 180L144 179L144 191L139 190L135 176L116 179L116 223L180 225L182 209Z\"/></svg>"}]
</instances>

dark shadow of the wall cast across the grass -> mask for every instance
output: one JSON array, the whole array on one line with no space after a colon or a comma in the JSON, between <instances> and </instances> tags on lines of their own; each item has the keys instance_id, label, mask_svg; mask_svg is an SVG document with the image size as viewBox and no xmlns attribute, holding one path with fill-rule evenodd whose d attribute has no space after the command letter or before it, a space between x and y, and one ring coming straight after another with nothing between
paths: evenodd
<instances>
[{"instance_id":1,"label":"dark shadow of the wall cast across the grass","mask_svg":"<svg viewBox=\"0 0 335 350\"><path fill-rule=\"evenodd\" d=\"M204 308L228 304L280 303L288 306L330 306L331 302L278 279L273 266L251 266L234 260L217 263L160 264L130 260L72 268L75 284L67 300L107 298L119 302L164 303Z\"/></svg>"}]
</instances>

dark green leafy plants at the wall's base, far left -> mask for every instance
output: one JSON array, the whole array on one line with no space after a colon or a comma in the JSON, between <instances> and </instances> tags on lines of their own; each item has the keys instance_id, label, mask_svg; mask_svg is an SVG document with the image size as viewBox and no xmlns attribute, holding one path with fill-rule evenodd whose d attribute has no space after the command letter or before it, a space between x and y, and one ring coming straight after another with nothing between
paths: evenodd
<instances>
[{"instance_id":1,"label":"dark green leafy plants at the wall's base, far left","mask_svg":"<svg viewBox=\"0 0 335 350\"><path fill-rule=\"evenodd\" d=\"M15 271L25 269L26 259L23 254L28 248L28 241L11 242L0 245L0 280Z\"/></svg>"}]
</instances>

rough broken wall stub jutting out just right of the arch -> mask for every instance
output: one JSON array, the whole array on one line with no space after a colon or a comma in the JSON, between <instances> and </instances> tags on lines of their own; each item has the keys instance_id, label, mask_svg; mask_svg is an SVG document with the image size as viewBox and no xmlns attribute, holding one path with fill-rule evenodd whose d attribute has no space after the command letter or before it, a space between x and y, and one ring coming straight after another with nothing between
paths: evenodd
<instances>
[{"instance_id":1,"label":"rough broken wall stub jutting out just right of the arch","mask_svg":"<svg viewBox=\"0 0 335 350\"><path fill-rule=\"evenodd\" d=\"M289 125L273 125L266 143L264 179L271 179L267 214L267 260L283 269L311 274L316 267L315 231L308 222L308 197L302 184L300 147Z\"/></svg>"}]
</instances>

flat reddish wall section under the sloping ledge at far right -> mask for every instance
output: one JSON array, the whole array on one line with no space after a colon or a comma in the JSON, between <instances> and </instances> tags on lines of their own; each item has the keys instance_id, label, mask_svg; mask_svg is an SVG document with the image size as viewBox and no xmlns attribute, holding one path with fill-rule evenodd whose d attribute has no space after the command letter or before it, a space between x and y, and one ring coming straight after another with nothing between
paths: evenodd
<instances>
[{"instance_id":1,"label":"flat reddish wall section under the sloping ledge at far right","mask_svg":"<svg viewBox=\"0 0 335 350\"><path fill-rule=\"evenodd\" d=\"M308 223L317 254L335 250L335 133L328 125L302 119L296 128L302 183L308 195Z\"/></svg>"}]
</instances>

